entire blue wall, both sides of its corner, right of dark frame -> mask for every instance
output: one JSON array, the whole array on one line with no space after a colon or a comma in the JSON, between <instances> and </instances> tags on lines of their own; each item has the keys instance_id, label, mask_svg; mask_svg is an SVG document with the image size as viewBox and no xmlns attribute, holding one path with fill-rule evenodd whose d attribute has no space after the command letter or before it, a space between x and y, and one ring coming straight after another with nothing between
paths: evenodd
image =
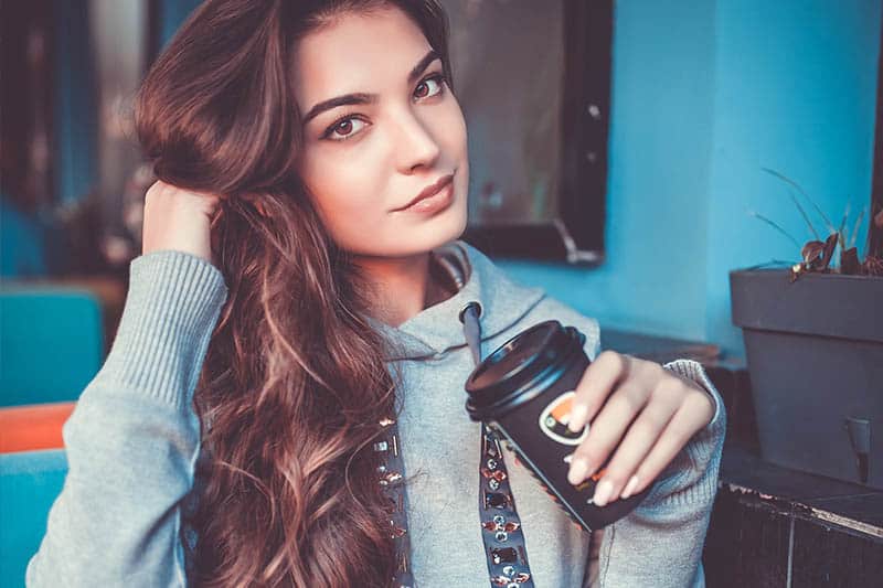
<instances>
[{"instance_id":1,"label":"entire blue wall, both sides of its corner, right of dark frame","mask_svg":"<svg viewBox=\"0 0 883 588\"><path fill-rule=\"evenodd\" d=\"M799 258L749 212L811 237L762 168L798 181L834 224L848 202L853 220L870 202L882 4L617 2L607 263L501 265L603 327L744 356L728 270Z\"/></svg>"}]
</instances>

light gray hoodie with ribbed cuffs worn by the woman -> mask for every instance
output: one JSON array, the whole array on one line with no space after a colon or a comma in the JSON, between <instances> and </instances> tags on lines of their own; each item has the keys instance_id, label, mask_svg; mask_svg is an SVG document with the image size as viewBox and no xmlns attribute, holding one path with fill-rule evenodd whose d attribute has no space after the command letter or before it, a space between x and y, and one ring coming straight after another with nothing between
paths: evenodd
<instances>
[{"instance_id":1,"label":"light gray hoodie with ribbed cuffs worn by the woman","mask_svg":"<svg viewBox=\"0 0 883 588\"><path fill-rule=\"evenodd\" d=\"M459 290L398 328L403 376L398 431L408 483L412 569L417 586L489 586L478 514L480 425L464 408L474 362L458 320L478 301L482 356L547 319L586 335L598 324L539 288L515 284L480 252L454 242L434 252ZM68 473L49 517L29 586L184 586L181 504L193 488L200 425L192 394L227 296L222 274L194 256L155 252L132 260L113 349L64 426ZM723 402L702 367L666 366L715 400L698 431L628 516L606 527L603 587L703 586L702 546L723 447ZM443 427L444 425L444 427ZM591 535L577 528L504 449L535 586L586 585Z\"/></svg>"}]
</instances>

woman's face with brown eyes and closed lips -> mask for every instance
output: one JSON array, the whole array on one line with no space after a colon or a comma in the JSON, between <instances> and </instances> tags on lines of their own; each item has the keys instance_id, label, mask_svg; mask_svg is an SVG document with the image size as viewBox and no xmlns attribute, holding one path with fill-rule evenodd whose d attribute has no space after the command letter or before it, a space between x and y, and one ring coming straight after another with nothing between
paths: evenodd
<instances>
[{"instance_id":1,"label":"woman's face with brown eyes and closed lips","mask_svg":"<svg viewBox=\"0 0 883 588\"><path fill-rule=\"evenodd\" d=\"M419 28L395 8L342 15L299 43L298 171L342 248L403 257L465 229L466 124L443 76ZM430 210L402 210L451 175L437 197L424 201Z\"/></svg>"}]
</instances>

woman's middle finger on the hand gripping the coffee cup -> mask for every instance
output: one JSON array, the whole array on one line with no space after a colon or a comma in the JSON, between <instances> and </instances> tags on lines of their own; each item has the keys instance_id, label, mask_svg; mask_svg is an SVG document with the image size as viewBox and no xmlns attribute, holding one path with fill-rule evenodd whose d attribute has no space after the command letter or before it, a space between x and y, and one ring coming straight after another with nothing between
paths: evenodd
<instances>
[{"instance_id":1,"label":"woman's middle finger on the hand gripping the coffee cup","mask_svg":"<svg viewBox=\"0 0 883 588\"><path fill-rule=\"evenodd\" d=\"M648 393L637 382L629 382L616 389L592 421L588 435L574 452L567 479L578 484L586 475L600 468L613 453L635 416L647 403Z\"/></svg>"}]
</instances>

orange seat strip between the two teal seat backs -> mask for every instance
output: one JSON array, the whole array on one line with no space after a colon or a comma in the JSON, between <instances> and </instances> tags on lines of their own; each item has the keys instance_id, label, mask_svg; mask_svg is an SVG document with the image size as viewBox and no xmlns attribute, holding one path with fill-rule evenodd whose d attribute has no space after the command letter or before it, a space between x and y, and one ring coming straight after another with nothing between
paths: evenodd
<instances>
[{"instance_id":1,"label":"orange seat strip between the two teal seat backs","mask_svg":"<svg viewBox=\"0 0 883 588\"><path fill-rule=\"evenodd\" d=\"M76 403L50 403L0 408L0 453L64 449L62 426Z\"/></svg>"}]
</instances>

